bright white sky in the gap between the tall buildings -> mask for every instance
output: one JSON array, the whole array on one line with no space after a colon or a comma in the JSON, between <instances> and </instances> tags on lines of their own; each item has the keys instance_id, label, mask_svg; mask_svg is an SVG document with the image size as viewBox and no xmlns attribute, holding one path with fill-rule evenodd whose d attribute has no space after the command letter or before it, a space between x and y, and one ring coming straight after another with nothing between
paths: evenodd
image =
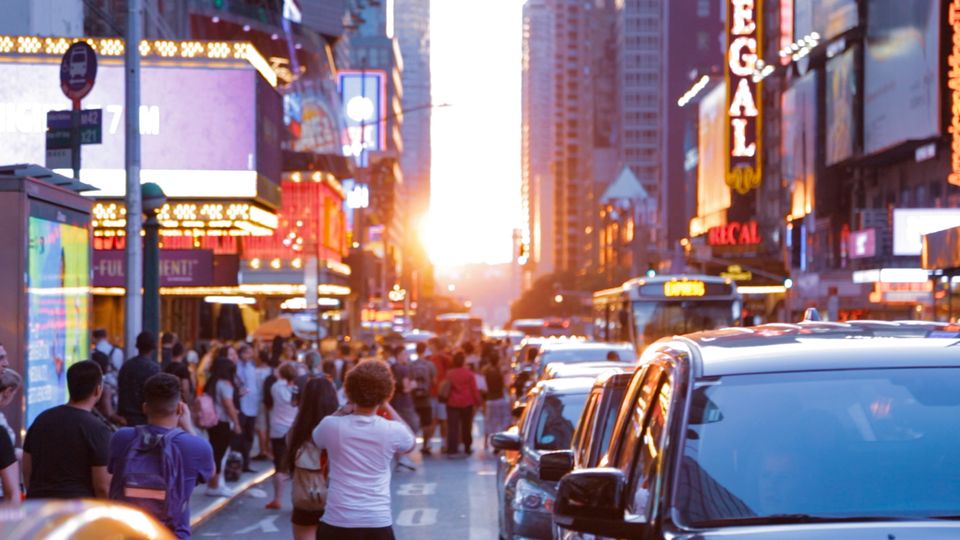
<instances>
[{"instance_id":1,"label":"bright white sky in the gap between the tall buildings","mask_svg":"<svg viewBox=\"0 0 960 540\"><path fill-rule=\"evenodd\" d=\"M522 0L430 3L432 194L440 267L503 263L520 223Z\"/></svg>"}]
</instances>

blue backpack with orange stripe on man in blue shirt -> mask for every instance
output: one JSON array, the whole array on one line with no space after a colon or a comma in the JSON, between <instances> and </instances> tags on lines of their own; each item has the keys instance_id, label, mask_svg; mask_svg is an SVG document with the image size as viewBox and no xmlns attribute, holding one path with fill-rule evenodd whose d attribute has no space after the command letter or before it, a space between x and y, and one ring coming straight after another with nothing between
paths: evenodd
<instances>
[{"instance_id":1,"label":"blue backpack with orange stripe on man in blue shirt","mask_svg":"<svg viewBox=\"0 0 960 540\"><path fill-rule=\"evenodd\" d=\"M113 471L110 498L136 506L176 530L190 502L184 481L183 456L173 439L183 433L174 428L163 435L146 426L136 436Z\"/></svg>"}]
</instances>

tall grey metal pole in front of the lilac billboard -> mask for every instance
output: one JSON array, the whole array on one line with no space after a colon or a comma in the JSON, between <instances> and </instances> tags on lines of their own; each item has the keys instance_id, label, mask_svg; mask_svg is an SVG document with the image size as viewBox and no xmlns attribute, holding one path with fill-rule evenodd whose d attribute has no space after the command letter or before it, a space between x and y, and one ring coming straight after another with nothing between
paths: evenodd
<instances>
[{"instance_id":1,"label":"tall grey metal pole in front of the lilac billboard","mask_svg":"<svg viewBox=\"0 0 960 540\"><path fill-rule=\"evenodd\" d=\"M127 35L124 48L126 117L124 152L127 169L126 298L123 337L128 355L136 348L142 313L143 245L140 242L143 201L140 197L140 38L143 34L142 0L127 1Z\"/></svg>"}]
</instances>

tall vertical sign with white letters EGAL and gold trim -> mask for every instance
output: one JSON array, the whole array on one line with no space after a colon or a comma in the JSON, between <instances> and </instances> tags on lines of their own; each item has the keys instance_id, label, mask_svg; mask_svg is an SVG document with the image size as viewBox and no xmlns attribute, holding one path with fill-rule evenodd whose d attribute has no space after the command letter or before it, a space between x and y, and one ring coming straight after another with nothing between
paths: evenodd
<instances>
[{"instance_id":1,"label":"tall vertical sign with white letters EGAL and gold trim","mask_svg":"<svg viewBox=\"0 0 960 540\"><path fill-rule=\"evenodd\" d=\"M958 0L960 1L960 0ZM763 0L727 0L726 181L746 194L760 185L763 97L753 82L763 51L760 37Z\"/></svg>"}]
</instances>

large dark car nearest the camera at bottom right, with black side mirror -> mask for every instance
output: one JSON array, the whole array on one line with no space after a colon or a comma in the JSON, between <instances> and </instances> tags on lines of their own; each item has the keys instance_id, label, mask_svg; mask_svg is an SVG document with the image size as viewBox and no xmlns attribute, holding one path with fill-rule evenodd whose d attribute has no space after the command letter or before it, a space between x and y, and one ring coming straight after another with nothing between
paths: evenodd
<instances>
[{"instance_id":1,"label":"large dark car nearest the camera at bottom right, with black side mirror","mask_svg":"<svg viewBox=\"0 0 960 540\"><path fill-rule=\"evenodd\" d=\"M612 538L960 538L960 326L765 325L644 352L556 523Z\"/></svg>"}]
</instances>

